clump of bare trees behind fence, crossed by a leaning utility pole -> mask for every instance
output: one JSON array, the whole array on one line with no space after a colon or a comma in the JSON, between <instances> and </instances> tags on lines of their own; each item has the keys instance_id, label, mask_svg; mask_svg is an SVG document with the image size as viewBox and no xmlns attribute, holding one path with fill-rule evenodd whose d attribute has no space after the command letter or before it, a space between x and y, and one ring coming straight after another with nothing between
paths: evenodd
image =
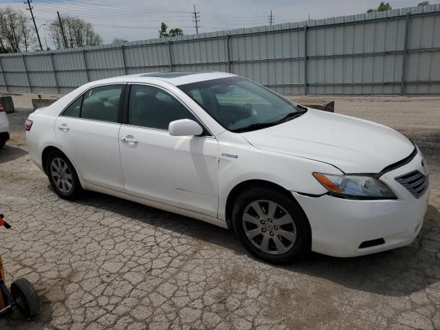
<instances>
[{"instance_id":1,"label":"clump of bare trees behind fence, crossed by a leaning utility pole","mask_svg":"<svg viewBox=\"0 0 440 330\"><path fill-rule=\"evenodd\" d=\"M102 38L95 32L94 26L85 19L69 16L61 17L61 24L63 24L65 36L63 36L63 30L58 19L55 19L49 25L52 41L57 50L62 47L85 47L102 43ZM66 39L67 44L65 44L64 39Z\"/></svg>"}]
</instances>

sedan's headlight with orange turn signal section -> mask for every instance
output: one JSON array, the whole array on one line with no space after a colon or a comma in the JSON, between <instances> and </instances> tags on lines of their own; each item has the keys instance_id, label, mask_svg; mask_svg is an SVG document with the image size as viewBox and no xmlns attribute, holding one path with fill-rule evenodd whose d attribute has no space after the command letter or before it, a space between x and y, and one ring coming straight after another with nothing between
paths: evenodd
<instances>
[{"instance_id":1,"label":"sedan's headlight with orange turn signal section","mask_svg":"<svg viewBox=\"0 0 440 330\"><path fill-rule=\"evenodd\" d=\"M370 175L334 175L313 173L315 179L330 192L341 197L367 199L395 199L384 182Z\"/></svg>"}]
</instances>

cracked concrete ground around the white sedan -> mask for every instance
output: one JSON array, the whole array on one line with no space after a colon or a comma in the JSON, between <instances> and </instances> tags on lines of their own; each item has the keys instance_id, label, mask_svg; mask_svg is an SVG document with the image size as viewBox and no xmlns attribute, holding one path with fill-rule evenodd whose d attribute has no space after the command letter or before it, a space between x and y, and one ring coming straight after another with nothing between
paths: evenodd
<instances>
[{"instance_id":1,"label":"cracked concrete ground around the white sedan","mask_svg":"<svg viewBox=\"0 0 440 330\"><path fill-rule=\"evenodd\" d=\"M21 108L26 99L14 96ZM0 329L440 329L440 98L331 99L426 155L430 205L412 245L277 267L208 223L96 193L64 201L26 151L30 111L9 115L0 210L13 227L0 230L0 252L8 283L34 283L41 311L0 319Z\"/></svg>"}]
</instances>

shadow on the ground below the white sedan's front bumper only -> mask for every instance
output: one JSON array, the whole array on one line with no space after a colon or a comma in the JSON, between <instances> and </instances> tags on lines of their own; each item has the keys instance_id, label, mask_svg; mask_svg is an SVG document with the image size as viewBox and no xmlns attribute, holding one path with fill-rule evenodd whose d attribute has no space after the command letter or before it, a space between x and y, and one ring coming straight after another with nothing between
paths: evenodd
<instances>
[{"instance_id":1,"label":"shadow on the ground below the white sedan's front bumper only","mask_svg":"<svg viewBox=\"0 0 440 330\"><path fill-rule=\"evenodd\" d=\"M313 253L309 259L283 268L352 289L384 296L406 296L440 280L439 229L439 210L430 205L421 231L411 245L354 258Z\"/></svg>"}]
</instances>

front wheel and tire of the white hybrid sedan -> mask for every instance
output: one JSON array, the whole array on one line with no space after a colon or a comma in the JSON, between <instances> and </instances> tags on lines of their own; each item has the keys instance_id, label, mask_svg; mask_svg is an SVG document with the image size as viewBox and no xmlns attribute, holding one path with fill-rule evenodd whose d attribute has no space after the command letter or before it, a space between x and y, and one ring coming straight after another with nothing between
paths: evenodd
<instances>
[{"instance_id":1,"label":"front wheel and tire of the white hybrid sedan","mask_svg":"<svg viewBox=\"0 0 440 330\"><path fill-rule=\"evenodd\" d=\"M246 250L267 263L294 263L311 248L303 209L274 188L254 187L241 193L232 210L232 226Z\"/></svg>"}]
</instances>

